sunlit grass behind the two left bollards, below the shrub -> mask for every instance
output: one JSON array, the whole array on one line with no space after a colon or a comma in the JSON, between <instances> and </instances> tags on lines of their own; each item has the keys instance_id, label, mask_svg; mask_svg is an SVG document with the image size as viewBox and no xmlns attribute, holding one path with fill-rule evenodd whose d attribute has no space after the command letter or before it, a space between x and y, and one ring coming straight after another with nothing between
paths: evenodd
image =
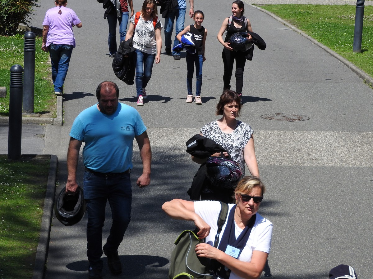
<instances>
[{"instance_id":1,"label":"sunlit grass behind the two left bollards, below the shrub","mask_svg":"<svg viewBox=\"0 0 373 279\"><path fill-rule=\"evenodd\" d=\"M23 35L0 36L0 86L7 87L6 98L0 98L0 116L9 116L10 68L19 64L23 67ZM50 74L49 54L41 50L41 38L35 41L35 88L34 112L56 117L56 96Z\"/></svg>"}]
</instances>

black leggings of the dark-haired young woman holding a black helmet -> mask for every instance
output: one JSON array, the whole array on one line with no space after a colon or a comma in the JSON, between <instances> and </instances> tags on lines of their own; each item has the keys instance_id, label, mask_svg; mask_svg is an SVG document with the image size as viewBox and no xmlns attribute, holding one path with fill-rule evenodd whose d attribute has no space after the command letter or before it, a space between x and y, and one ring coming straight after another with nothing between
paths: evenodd
<instances>
[{"instance_id":1,"label":"black leggings of the dark-haired young woman holding a black helmet","mask_svg":"<svg viewBox=\"0 0 373 279\"><path fill-rule=\"evenodd\" d=\"M242 87L244 86L244 68L246 62L245 52L230 51L223 49L222 58L224 63L224 89L231 89L231 77L233 71L233 62L236 60L236 92L242 94Z\"/></svg>"}]
</instances>

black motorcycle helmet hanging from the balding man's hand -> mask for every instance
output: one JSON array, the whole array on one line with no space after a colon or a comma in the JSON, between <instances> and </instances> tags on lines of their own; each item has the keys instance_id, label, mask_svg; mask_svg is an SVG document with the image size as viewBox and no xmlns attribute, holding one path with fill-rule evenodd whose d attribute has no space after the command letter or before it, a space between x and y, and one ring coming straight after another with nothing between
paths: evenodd
<instances>
[{"instance_id":1,"label":"black motorcycle helmet hanging from the balding man's hand","mask_svg":"<svg viewBox=\"0 0 373 279\"><path fill-rule=\"evenodd\" d=\"M79 184L75 194L67 194L66 187L63 187L54 203L54 213L65 226L78 223L84 217L86 209L83 188Z\"/></svg>"}]
</instances>

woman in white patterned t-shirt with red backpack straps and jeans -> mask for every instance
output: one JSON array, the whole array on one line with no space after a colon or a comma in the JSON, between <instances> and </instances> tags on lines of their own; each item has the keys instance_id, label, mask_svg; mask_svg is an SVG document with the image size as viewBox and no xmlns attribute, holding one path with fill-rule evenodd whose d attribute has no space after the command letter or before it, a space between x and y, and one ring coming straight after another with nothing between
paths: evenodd
<instances>
[{"instance_id":1,"label":"woman in white patterned t-shirt with red backpack straps and jeans","mask_svg":"<svg viewBox=\"0 0 373 279\"><path fill-rule=\"evenodd\" d=\"M153 70L154 60L156 64L161 61L162 36L163 28L157 16L157 4L155 0L145 0L140 12L136 13L129 20L129 28L126 39L134 40L136 61L136 94L137 105L143 106L147 98L146 89Z\"/></svg>"}]
</instances>

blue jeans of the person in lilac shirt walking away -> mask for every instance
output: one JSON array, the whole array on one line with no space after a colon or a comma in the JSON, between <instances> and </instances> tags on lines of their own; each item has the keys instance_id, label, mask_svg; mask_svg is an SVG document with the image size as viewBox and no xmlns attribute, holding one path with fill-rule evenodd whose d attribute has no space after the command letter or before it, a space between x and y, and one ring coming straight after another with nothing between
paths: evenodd
<instances>
[{"instance_id":1,"label":"blue jeans of the person in lilac shirt walking away","mask_svg":"<svg viewBox=\"0 0 373 279\"><path fill-rule=\"evenodd\" d=\"M50 44L48 48L52 66L54 92L62 92L62 86L69 70L73 46Z\"/></svg>"}]
</instances>

